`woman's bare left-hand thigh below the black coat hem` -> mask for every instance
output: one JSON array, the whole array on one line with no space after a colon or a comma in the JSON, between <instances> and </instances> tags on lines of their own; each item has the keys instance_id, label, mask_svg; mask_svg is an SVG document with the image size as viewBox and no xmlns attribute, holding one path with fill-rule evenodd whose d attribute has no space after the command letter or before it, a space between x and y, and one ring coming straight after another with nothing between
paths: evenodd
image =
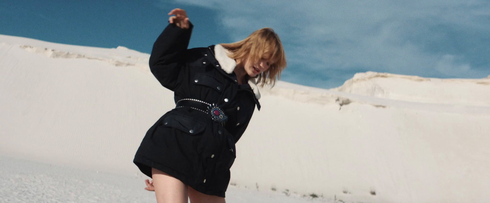
<instances>
[{"instance_id":1,"label":"woman's bare left-hand thigh below the black coat hem","mask_svg":"<svg viewBox=\"0 0 490 203\"><path fill-rule=\"evenodd\" d=\"M182 181L151 168L157 203L188 203L188 189Z\"/></svg>"}]
</instances>

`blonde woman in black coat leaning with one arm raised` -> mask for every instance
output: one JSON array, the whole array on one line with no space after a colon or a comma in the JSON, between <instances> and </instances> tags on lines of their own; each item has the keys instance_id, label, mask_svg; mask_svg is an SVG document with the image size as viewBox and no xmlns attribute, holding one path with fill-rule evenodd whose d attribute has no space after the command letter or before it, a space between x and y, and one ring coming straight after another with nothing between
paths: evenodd
<instances>
[{"instance_id":1,"label":"blonde woman in black coat leaning with one arm raised","mask_svg":"<svg viewBox=\"0 0 490 203\"><path fill-rule=\"evenodd\" d=\"M224 203L235 143L255 106L260 110L256 82L273 85L285 54L270 28L240 42L188 50L193 25L186 12L169 15L149 66L174 92L176 107L147 131L134 163L153 178L158 203Z\"/></svg>"}]
</instances>

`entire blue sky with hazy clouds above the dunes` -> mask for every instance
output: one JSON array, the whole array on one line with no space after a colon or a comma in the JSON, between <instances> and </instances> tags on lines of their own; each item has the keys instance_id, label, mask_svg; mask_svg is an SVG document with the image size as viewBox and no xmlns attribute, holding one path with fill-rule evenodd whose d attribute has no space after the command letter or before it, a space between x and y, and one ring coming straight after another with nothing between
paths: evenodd
<instances>
[{"instance_id":1,"label":"entire blue sky with hazy clouds above the dunes","mask_svg":"<svg viewBox=\"0 0 490 203\"><path fill-rule=\"evenodd\" d=\"M177 7L195 25L190 48L272 27L288 82L332 88L366 71L490 75L489 0L1 0L0 34L149 53Z\"/></svg>"}]
</instances>

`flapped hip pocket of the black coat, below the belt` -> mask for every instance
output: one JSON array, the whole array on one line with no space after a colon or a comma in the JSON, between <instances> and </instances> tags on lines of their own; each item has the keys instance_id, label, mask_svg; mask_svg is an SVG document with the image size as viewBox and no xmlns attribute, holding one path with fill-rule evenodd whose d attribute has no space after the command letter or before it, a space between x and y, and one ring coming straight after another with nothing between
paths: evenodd
<instances>
[{"instance_id":1,"label":"flapped hip pocket of the black coat, below the belt","mask_svg":"<svg viewBox=\"0 0 490 203\"><path fill-rule=\"evenodd\" d=\"M206 125L186 115L169 114L162 123L165 127L174 127L191 135L204 131Z\"/></svg>"}]
</instances>

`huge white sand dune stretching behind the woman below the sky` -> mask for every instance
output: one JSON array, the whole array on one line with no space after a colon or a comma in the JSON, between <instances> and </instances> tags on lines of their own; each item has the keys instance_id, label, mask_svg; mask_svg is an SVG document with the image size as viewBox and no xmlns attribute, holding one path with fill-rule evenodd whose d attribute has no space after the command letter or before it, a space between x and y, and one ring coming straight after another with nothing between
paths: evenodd
<instances>
[{"instance_id":1,"label":"huge white sand dune stretching behind the woman below the sky","mask_svg":"<svg viewBox=\"0 0 490 203\"><path fill-rule=\"evenodd\" d=\"M174 106L148 57L0 35L0 155L10 157L2 163L83 170L94 184L83 174L117 174L141 181L134 188L143 191L133 155ZM258 201L246 198L252 191L262 202L308 202L293 196L310 194L331 202L490 201L490 78L368 72L330 90L279 82L261 93L263 107L237 144L228 202ZM0 168L0 181L21 173L9 170ZM11 192L1 185L0 197Z\"/></svg>"}]
</instances>

